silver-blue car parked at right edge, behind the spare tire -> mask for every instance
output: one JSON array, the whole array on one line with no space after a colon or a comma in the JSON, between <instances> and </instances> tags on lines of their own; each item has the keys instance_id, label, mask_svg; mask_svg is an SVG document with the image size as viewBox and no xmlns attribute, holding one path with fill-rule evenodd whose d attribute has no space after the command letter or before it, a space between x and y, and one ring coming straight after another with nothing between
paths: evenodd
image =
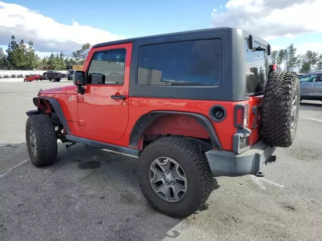
<instances>
[{"instance_id":1,"label":"silver-blue car parked at right edge, behind the spare tire","mask_svg":"<svg viewBox=\"0 0 322 241\"><path fill-rule=\"evenodd\" d=\"M322 100L322 70L312 71L299 77L300 99Z\"/></svg>"}]
</instances>

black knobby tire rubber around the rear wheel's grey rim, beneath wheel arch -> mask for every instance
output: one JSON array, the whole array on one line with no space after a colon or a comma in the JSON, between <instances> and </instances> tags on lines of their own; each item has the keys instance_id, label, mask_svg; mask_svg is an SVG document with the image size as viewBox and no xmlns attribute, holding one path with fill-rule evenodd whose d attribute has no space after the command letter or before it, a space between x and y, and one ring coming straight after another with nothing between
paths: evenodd
<instances>
[{"instance_id":1,"label":"black knobby tire rubber around the rear wheel's grey rim, beneath wheel arch","mask_svg":"<svg viewBox=\"0 0 322 241\"><path fill-rule=\"evenodd\" d=\"M169 157L179 163L187 177L187 192L177 202L160 198L149 181L151 163L159 157ZM138 182L143 195L157 211L172 217L185 217L204 206L212 186L212 175L205 154L182 137L160 138L149 144L138 160Z\"/></svg>"}]
</instances>

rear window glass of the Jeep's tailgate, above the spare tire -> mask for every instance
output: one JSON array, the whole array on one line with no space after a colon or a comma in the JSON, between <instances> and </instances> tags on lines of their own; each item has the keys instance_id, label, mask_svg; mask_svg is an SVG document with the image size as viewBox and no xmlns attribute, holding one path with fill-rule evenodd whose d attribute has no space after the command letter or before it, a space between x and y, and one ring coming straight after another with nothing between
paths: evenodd
<instances>
[{"instance_id":1,"label":"rear window glass of the Jeep's tailgate, above the spare tire","mask_svg":"<svg viewBox=\"0 0 322 241\"><path fill-rule=\"evenodd\" d=\"M253 49L249 49L245 40L246 58L246 89L247 94L262 94L268 78L270 58L266 47L254 42Z\"/></svg>"}]
</instances>

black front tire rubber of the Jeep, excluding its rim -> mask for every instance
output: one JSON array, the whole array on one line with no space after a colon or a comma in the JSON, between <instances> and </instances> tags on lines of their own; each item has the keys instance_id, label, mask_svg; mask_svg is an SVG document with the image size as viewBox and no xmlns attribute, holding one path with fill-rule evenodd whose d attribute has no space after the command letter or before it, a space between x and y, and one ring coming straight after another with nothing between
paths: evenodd
<instances>
[{"instance_id":1,"label":"black front tire rubber of the Jeep, excluding its rim","mask_svg":"<svg viewBox=\"0 0 322 241\"><path fill-rule=\"evenodd\" d=\"M29 130L33 127L36 136L36 155L30 146ZM35 114L26 123L27 150L32 164L36 167L53 164L57 158L57 139L54 126L48 114Z\"/></svg>"}]
</instances>

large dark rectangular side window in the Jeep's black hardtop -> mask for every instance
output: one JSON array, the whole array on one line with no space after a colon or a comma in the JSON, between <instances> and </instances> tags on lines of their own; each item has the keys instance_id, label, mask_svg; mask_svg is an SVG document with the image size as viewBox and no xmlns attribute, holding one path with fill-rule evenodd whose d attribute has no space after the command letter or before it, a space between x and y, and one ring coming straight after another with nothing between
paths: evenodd
<instances>
[{"instance_id":1,"label":"large dark rectangular side window in the Jeep's black hardtop","mask_svg":"<svg viewBox=\"0 0 322 241\"><path fill-rule=\"evenodd\" d=\"M222 80L221 40L142 46L137 74L139 85L218 85Z\"/></svg>"}]
</instances>

